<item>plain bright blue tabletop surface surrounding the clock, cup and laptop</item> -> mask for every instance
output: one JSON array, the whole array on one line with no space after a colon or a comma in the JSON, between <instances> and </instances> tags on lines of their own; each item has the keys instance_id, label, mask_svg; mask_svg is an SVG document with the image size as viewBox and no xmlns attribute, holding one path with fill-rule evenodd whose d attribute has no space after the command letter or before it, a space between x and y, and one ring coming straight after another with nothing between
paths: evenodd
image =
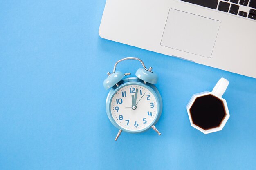
<instances>
[{"instance_id":1,"label":"plain bright blue tabletop surface surrounding the clock, cup and laptop","mask_svg":"<svg viewBox=\"0 0 256 170\"><path fill-rule=\"evenodd\" d=\"M0 169L225 169L256 167L256 79L99 37L104 0L0 1ZM118 132L106 115L106 73L123 57L159 75L164 108L153 130ZM122 72L141 65L127 61ZM230 119L204 135L186 104L229 80Z\"/></svg>"}]
</instances>

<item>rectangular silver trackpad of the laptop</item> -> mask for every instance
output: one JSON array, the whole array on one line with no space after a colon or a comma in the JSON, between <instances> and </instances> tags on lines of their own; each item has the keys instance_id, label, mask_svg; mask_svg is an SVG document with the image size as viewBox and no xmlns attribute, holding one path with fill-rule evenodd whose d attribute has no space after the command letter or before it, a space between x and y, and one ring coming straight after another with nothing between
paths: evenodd
<instances>
[{"instance_id":1,"label":"rectangular silver trackpad of the laptop","mask_svg":"<svg viewBox=\"0 0 256 170\"><path fill-rule=\"evenodd\" d=\"M161 45L211 57L220 21L170 9Z\"/></svg>"}]
</instances>

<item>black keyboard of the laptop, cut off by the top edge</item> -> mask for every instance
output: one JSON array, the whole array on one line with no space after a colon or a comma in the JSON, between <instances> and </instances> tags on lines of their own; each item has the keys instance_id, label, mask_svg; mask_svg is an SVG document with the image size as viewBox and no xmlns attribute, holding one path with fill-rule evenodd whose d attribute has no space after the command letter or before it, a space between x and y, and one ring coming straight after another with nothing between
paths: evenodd
<instances>
[{"instance_id":1,"label":"black keyboard of the laptop, cut off by the top edge","mask_svg":"<svg viewBox=\"0 0 256 170\"><path fill-rule=\"evenodd\" d=\"M256 0L181 0L218 11L256 20Z\"/></svg>"}]
</instances>

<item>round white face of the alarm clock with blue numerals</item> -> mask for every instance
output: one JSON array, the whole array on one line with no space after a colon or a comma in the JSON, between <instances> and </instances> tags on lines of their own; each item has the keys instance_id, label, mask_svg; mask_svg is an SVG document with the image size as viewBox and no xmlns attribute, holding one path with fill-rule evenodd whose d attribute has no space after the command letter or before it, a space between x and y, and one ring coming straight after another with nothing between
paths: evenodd
<instances>
[{"instance_id":1,"label":"round white face of the alarm clock with blue numerals","mask_svg":"<svg viewBox=\"0 0 256 170\"><path fill-rule=\"evenodd\" d=\"M111 114L119 126L138 131L148 128L157 116L157 99L148 88L139 85L124 86L111 101Z\"/></svg>"}]
</instances>

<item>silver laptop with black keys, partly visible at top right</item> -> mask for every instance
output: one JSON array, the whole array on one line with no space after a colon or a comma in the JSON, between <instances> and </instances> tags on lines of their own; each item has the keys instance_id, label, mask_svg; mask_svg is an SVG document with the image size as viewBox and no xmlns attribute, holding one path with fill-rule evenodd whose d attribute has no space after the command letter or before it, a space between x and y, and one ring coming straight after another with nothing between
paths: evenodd
<instances>
[{"instance_id":1,"label":"silver laptop with black keys, partly visible at top right","mask_svg":"<svg viewBox=\"0 0 256 170\"><path fill-rule=\"evenodd\" d=\"M256 0L107 0L99 35L256 78Z\"/></svg>"}]
</instances>

